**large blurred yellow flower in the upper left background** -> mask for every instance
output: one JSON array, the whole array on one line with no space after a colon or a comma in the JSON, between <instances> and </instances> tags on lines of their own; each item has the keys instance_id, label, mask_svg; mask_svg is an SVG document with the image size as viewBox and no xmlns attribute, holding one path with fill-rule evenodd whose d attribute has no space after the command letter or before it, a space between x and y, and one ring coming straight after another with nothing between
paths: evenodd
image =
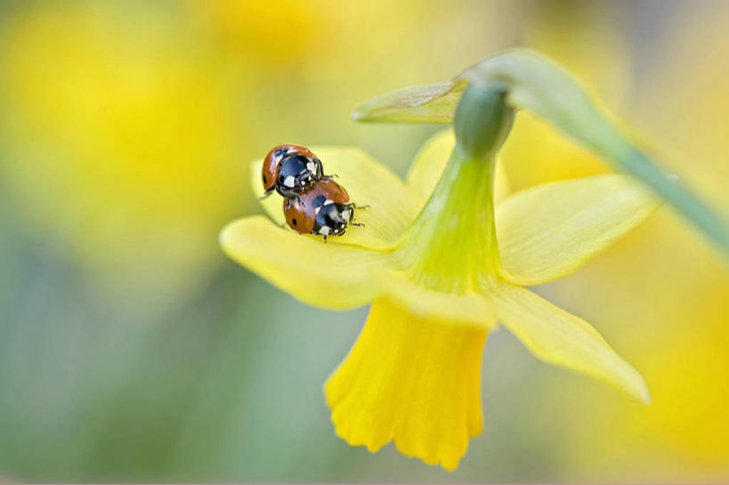
<instances>
[{"instance_id":1,"label":"large blurred yellow flower in the upper left background","mask_svg":"<svg viewBox=\"0 0 729 485\"><path fill-rule=\"evenodd\" d=\"M20 219L135 303L198 284L243 178L219 57L170 6L9 10L0 136Z\"/></svg>"}]
</instances>

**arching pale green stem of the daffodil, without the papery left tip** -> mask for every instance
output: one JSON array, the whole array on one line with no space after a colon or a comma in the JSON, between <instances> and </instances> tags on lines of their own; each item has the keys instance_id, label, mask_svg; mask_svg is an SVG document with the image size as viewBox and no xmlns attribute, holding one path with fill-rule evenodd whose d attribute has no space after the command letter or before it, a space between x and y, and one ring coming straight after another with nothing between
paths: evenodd
<instances>
[{"instance_id":1,"label":"arching pale green stem of the daffodil, without the papery left tip","mask_svg":"<svg viewBox=\"0 0 729 485\"><path fill-rule=\"evenodd\" d=\"M506 86L511 106L531 110L614 168L644 182L729 254L726 222L691 190L653 165L555 62L528 50L514 50L466 69L458 79Z\"/></svg>"}]
</instances>

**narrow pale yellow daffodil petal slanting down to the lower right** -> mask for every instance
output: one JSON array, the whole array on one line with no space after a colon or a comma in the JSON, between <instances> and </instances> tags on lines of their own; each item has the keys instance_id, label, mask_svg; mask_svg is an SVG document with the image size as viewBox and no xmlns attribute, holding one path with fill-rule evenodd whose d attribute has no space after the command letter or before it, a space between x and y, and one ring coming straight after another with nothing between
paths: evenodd
<instances>
[{"instance_id":1,"label":"narrow pale yellow daffodil petal slanting down to the lower right","mask_svg":"<svg viewBox=\"0 0 729 485\"><path fill-rule=\"evenodd\" d=\"M503 281L494 281L485 291L498 319L539 359L597 377L650 402L643 377L585 320Z\"/></svg>"}]
</instances>

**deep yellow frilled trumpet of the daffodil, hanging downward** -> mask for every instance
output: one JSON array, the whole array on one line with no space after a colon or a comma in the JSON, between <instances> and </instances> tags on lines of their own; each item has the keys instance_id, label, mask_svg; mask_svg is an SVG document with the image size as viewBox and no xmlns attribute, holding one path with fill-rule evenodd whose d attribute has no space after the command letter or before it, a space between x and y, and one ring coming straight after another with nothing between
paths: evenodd
<instances>
[{"instance_id":1,"label":"deep yellow frilled trumpet of the daffodil, hanging downward","mask_svg":"<svg viewBox=\"0 0 729 485\"><path fill-rule=\"evenodd\" d=\"M468 439L482 431L486 335L377 300L324 387L336 433L371 452L394 441L409 457L456 469Z\"/></svg>"}]
</instances>

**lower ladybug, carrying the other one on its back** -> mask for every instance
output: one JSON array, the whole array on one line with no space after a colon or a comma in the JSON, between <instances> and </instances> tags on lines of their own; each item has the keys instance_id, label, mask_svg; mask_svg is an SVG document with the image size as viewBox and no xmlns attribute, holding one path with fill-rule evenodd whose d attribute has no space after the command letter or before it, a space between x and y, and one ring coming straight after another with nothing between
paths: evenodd
<instances>
[{"instance_id":1,"label":"lower ladybug, carrying the other one on its back","mask_svg":"<svg viewBox=\"0 0 729 485\"><path fill-rule=\"evenodd\" d=\"M347 225L363 226L354 221L356 206L349 202L349 194L332 180L320 180L298 198L284 200L284 215L288 227L301 234L342 236Z\"/></svg>"}]
</instances>

